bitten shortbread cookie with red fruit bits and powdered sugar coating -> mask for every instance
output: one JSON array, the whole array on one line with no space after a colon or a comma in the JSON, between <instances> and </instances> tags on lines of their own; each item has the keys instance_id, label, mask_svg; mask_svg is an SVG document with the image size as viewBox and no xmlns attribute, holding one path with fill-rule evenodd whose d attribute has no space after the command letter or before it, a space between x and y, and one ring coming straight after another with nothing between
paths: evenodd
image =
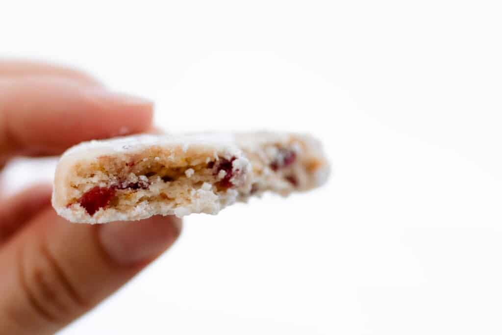
<instances>
[{"instance_id":1,"label":"bitten shortbread cookie with red fruit bits and powdered sugar coating","mask_svg":"<svg viewBox=\"0 0 502 335\"><path fill-rule=\"evenodd\" d=\"M52 204L72 222L138 220L152 215L216 214L273 191L321 185L328 164L306 135L139 135L68 149L56 168Z\"/></svg>"}]
</instances>

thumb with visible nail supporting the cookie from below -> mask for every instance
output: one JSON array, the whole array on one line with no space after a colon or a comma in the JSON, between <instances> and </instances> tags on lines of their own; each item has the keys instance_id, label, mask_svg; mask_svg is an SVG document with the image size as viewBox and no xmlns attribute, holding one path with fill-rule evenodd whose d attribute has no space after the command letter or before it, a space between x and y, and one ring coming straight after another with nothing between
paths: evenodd
<instances>
[{"instance_id":1,"label":"thumb with visible nail supporting the cookie from below","mask_svg":"<svg viewBox=\"0 0 502 335\"><path fill-rule=\"evenodd\" d=\"M175 217L91 226L44 211L0 250L0 324L20 335L57 331L171 246L179 232Z\"/></svg>"}]
</instances>

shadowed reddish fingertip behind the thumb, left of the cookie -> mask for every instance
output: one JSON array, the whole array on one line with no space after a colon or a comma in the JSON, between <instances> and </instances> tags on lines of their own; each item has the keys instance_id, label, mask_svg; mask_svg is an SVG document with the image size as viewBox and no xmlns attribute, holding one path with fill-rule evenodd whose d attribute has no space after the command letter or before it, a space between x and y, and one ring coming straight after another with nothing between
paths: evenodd
<instances>
[{"instance_id":1,"label":"shadowed reddish fingertip behind the thumb, left of the cookie","mask_svg":"<svg viewBox=\"0 0 502 335\"><path fill-rule=\"evenodd\" d=\"M32 186L0 201L0 246L51 203L51 185Z\"/></svg>"}]
</instances>

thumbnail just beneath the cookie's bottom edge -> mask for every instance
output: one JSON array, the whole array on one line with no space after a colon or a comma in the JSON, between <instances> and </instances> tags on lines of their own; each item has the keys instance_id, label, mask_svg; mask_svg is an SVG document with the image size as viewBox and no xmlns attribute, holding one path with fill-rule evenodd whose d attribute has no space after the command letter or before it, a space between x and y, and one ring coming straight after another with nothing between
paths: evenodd
<instances>
[{"instance_id":1,"label":"thumbnail just beneath the cookie's bottom edge","mask_svg":"<svg viewBox=\"0 0 502 335\"><path fill-rule=\"evenodd\" d=\"M181 231L175 216L153 216L141 221L111 222L98 236L105 252L121 265L150 261L169 248Z\"/></svg>"}]
</instances>

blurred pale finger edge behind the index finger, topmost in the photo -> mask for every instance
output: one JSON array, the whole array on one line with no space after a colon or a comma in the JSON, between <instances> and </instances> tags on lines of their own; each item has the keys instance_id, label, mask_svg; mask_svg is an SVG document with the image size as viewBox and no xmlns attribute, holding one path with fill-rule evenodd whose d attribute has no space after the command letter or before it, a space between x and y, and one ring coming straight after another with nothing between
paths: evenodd
<instances>
[{"instance_id":1,"label":"blurred pale finger edge behind the index finger, topmost in the photo","mask_svg":"<svg viewBox=\"0 0 502 335\"><path fill-rule=\"evenodd\" d=\"M91 86L101 83L90 75L65 66L28 60L0 60L1 78L61 77Z\"/></svg>"}]
</instances>

